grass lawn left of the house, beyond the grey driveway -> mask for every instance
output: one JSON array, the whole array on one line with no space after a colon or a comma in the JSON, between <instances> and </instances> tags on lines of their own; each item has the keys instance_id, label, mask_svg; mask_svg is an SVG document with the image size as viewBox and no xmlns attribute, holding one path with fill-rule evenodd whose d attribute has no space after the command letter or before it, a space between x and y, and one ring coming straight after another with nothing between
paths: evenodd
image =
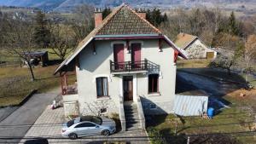
<instances>
[{"instance_id":1,"label":"grass lawn left of the house, beyond the grey driveway","mask_svg":"<svg viewBox=\"0 0 256 144\"><path fill-rule=\"evenodd\" d=\"M33 68L36 81L32 82L27 67L6 66L0 68L0 106L7 107L17 105L32 89L38 89L38 93L55 89L61 85L59 76L54 76L56 66ZM69 77L73 83L75 76Z\"/></svg>"}]
</instances>

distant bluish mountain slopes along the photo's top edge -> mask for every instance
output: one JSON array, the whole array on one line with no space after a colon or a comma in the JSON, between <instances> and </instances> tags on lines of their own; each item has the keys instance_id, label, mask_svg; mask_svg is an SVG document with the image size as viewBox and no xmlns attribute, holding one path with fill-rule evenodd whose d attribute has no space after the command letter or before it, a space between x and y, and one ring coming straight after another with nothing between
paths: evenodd
<instances>
[{"instance_id":1,"label":"distant bluish mountain slopes along the photo's top edge","mask_svg":"<svg viewBox=\"0 0 256 144\"><path fill-rule=\"evenodd\" d=\"M123 0L0 0L0 5L5 6L18 6L18 7L35 7L46 10L71 10L80 4L89 4L96 7L115 7L123 3ZM133 7L195 7L195 6L220 6L227 7L232 5L237 8L238 5L249 3L248 5L256 5L255 0L125 0L125 3L129 3ZM236 4L235 4L236 3Z\"/></svg>"}]
</instances>

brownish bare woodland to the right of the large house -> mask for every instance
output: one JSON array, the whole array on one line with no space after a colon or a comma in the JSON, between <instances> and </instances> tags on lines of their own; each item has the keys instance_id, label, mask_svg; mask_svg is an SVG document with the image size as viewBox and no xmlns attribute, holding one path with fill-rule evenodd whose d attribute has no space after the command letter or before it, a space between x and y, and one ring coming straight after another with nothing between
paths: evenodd
<instances>
[{"instance_id":1,"label":"brownish bare woodland to the right of the large house","mask_svg":"<svg viewBox=\"0 0 256 144\"><path fill-rule=\"evenodd\" d=\"M229 49L230 55L218 55L210 64L227 70L243 69L247 74L255 71L256 14L237 19L232 11L221 9L174 9L159 28L175 41L180 32L199 37L210 47ZM254 70L253 70L254 68Z\"/></svg>"}]
</instances>

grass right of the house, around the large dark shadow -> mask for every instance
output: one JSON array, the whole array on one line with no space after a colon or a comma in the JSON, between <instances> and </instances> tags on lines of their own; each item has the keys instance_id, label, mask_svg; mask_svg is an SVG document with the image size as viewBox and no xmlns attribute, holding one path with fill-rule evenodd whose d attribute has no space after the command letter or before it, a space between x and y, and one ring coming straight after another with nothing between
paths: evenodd
<instances>
[{"instance_id":1,"label":"grass right of the house, around the large dark shadow","mask_svg":"<svg viewBox=\"0 0 256 144\"><path fill-rule=\"evenodd\" d=\"M194 72L201 75L245 82L245 75L234 73L228 75L225 71L207 68L209 62L210 60L178 60L177 67L184 71ZM255 79L252 77L249 78L249 80L255 82ZM244 94L245 96L241 97L241 94ZM256 89L237 89L224 95L224 100L230 101L231 103L230 108L225 108L212 119L201 117L177 117L172 114L157 116L157 118L152 118L154 121L152 124L148 125L148 133L152 134L152 132L150 132L151 130L158 131L154 133L163 136L166 143L186 143L186 135L201 134L200 137L202 137L204 134L211 133L230 133L233 134L232 137L235 137L236 140L241 143L256 143L256 135L234 135L241 131L256 130L255 95ZM174 139L170 139L170 136L174 136ZM212 137L210 139L212 139ZM161 141L160 143L162 143ZM204 141L204 143L210 143L209 141Z\"/></svg>"}]
</instances>

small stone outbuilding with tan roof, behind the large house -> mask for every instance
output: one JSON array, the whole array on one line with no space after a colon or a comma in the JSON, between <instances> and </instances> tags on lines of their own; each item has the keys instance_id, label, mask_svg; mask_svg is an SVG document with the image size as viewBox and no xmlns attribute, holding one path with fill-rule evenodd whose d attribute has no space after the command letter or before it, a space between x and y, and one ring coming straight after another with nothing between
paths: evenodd
<instances>
[{"instance_id":1,"label":"small stone outbuilding with tan roof, behind the large house","mask_svg":"<svg viewBox=\"0 0 256 144\"><path fill-rule=\"evenodd\" d=\"M189 59L213 59L217 52L209 49L198 37L187 33L179 33L175 44L186 51Z\"/></svg>"}]
</instances>

